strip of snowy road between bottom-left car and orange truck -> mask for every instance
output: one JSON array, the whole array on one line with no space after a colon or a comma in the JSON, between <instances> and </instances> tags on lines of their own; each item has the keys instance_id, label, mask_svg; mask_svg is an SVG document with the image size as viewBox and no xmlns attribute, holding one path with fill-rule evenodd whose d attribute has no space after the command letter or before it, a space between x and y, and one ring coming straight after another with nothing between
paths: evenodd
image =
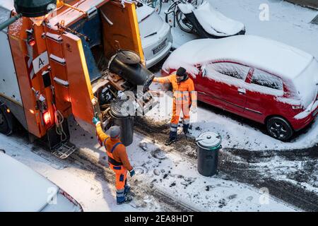
<instances>
[{"instance_id":1,"label":"strip of snowy road between bottom-left car and orange truck","mask_svg":"<svg viewBox=\"0 0 318 226\"><path fill-rule=\"evenodd\" d=\"M47 155L41 157L31 151L33 145L21 138L0 134L0 148L64 189L81 203L84 211L136 211L128 205L117 206L112 186L96 177L94 172L83 170L78 165L68 165L45 150L43 152Z\"/></svg>"}]
</instances>

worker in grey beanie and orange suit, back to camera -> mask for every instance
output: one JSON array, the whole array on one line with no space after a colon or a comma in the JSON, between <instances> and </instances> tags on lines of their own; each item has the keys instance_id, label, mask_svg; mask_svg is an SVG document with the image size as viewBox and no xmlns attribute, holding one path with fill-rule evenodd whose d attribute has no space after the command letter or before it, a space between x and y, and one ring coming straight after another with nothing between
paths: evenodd
<instances>
[{"instance_id":1,"label":"worker in grey beanie and orange suit, back to camera","mask_svg":"<svg viewBox=\"0 0 318 226\"><path fill-rule=\"evenodd\" d=\"M127 184L127 172L129 171L130 177L133 177L135 171L129 162L126 147L119 140L120 128L119 126L112 126L110 128L110 136L108 136L102 131L99 119L94 117L93 124L96 125L99 143L105 146L108 155L108 164L115 173L117 204L129 203L131 197L127 196L130 190L130 186Z\"/></svg>"}]
</instances>

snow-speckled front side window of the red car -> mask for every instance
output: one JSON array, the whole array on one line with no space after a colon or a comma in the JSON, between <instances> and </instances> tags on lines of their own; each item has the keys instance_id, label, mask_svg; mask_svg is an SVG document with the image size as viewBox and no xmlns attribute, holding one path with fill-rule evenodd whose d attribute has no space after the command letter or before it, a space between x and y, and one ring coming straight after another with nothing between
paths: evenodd
<instances>
[{"instance_id":1,"label":"snow-speckled front side window of the red car","mask_svg":"<svg viewBox=\"0 0 318 226\"><path fill-rule=\"evenodd\" d=\"M208 73L221 73L225 76L230 76L233 78L238 78L243 81L245 81L247 74L249 73L249 67L243 66L241 64L235 64L235 63L215 63L210 64L208 67Z\"/></svg>"}]
</instances>

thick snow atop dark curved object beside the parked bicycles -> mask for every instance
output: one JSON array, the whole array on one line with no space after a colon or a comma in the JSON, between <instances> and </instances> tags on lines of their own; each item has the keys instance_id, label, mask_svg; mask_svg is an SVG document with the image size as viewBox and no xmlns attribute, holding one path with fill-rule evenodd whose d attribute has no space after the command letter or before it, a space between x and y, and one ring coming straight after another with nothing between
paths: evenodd
<instances>
[{"instance_id":1,"label":"thick snow atop dark curved object beside the parked bicycles","mask_svg":"<svg viewBox=\"0 0 318 226\"><path fill-rule=\"evenodd\" d=\"M182 13L193 12L196 19L206 32L216 36L236 35L245 29L245 25L239 21L232 20L216 11L208 1L194 8L192 4L179 4L178 7Z\"/></svg>"}]
</instances>

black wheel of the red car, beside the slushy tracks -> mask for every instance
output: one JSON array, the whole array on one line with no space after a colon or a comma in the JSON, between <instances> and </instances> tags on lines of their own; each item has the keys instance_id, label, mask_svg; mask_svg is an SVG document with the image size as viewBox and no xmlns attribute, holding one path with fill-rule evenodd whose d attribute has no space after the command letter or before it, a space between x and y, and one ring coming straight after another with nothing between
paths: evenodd
<instances>
[{"instance_id":1,"label":"black wheel of the red car, beside the slushy tracks","mask_svg":"<svg viewBox=\"0 0 318 226\"><path fill-rule=\"evenodd\" d=\"M271 117L266 122L266 128L269 135L280 141L288 141L294 133L288 121L281 117Z\"/></svg>"}]
</instances>

